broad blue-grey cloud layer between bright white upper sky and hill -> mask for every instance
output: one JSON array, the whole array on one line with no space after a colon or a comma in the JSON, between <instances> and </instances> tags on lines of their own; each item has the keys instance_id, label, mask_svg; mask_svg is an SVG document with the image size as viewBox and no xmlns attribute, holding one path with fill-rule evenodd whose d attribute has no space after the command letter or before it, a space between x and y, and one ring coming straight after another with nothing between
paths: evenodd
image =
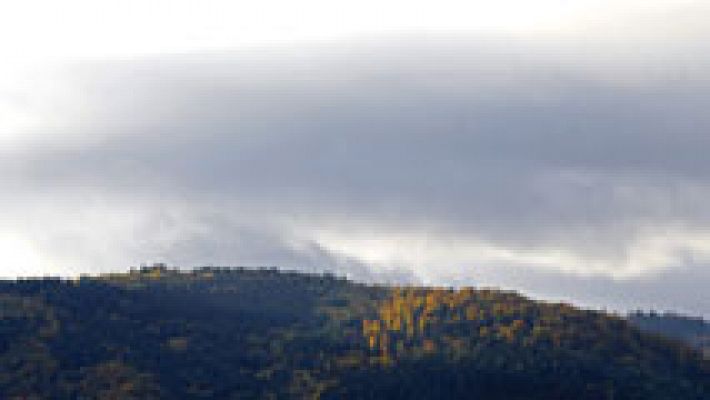
<instances>
[{"instance_id":1,"label":"broad blue-grey cloud layer between bright white upper sky and hill","mask_svg":"<svg viewBox=\"0 0 710 400\"><path fill-rule=\"evenodd\" d=\"M710 315L708 60L590 49L419 38L65 67L38 105L62 112L0 141L0 237L28 264L2 273L280 265Z\"/></svg>"}]
</instances>

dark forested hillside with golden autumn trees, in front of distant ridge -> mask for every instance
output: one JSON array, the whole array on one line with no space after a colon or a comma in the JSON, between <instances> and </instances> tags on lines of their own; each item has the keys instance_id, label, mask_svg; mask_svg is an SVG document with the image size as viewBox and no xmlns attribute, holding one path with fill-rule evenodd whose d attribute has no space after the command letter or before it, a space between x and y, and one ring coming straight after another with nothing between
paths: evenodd
<instances>
[{"instance_id":1,"label":"dark forested hillside with golden autumn trees, in front of distant ridge","mask_svg":"<svg viewBox=\"0 0 710 400\"><path fill-rule=\"evenodd\" d=\"M515 293L154 267L0 283L0 398L708 399L710 365Z\"/></svg>"}]
</instances>

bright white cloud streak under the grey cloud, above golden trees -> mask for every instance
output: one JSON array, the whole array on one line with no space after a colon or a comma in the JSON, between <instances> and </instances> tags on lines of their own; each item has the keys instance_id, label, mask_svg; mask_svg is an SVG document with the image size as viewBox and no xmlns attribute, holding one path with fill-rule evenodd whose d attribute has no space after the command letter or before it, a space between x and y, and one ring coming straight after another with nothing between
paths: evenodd
<instances>
[{"instance_id":1,"label":"bright white cloud streak under the grey cloud, above golden trees","mask_svg":"<svg viewBox=\"0 0 710 400\"><path fill-rule=\"evenodd\" d=\"M332 253L367 265L411 268L425 282L433 284L446 284L452 279L475 280L479 266L515 265L627 280L657 275L689 262L710 262L710 230L658 225L628 238L621 254L608 251L589 254L584 247L569 247L564 243L543 242L525 247L471 237L465 232L387 229L374 222L367 228L357 228L350 222L336 224L340 225L339 230L316 229L306 236Z\"/></svg>"}]
</instances>

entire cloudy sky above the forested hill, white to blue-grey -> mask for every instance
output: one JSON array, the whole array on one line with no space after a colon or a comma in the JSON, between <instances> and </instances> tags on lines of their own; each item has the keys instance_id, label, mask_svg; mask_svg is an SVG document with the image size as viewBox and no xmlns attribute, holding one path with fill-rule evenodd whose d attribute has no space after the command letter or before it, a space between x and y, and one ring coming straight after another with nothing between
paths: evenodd
<instances>
[{"instance_id":1,"label":"entire cloudy sky above the forested hill, white to blue-grey","mask_svg":"<svg viewBox=\"0 0 710 400\"><path fill-rule=\"evenodd\" d=\"M0 5L0 276L141 263L710 317L710 5Z\"/></svg>"}]
</instances>

